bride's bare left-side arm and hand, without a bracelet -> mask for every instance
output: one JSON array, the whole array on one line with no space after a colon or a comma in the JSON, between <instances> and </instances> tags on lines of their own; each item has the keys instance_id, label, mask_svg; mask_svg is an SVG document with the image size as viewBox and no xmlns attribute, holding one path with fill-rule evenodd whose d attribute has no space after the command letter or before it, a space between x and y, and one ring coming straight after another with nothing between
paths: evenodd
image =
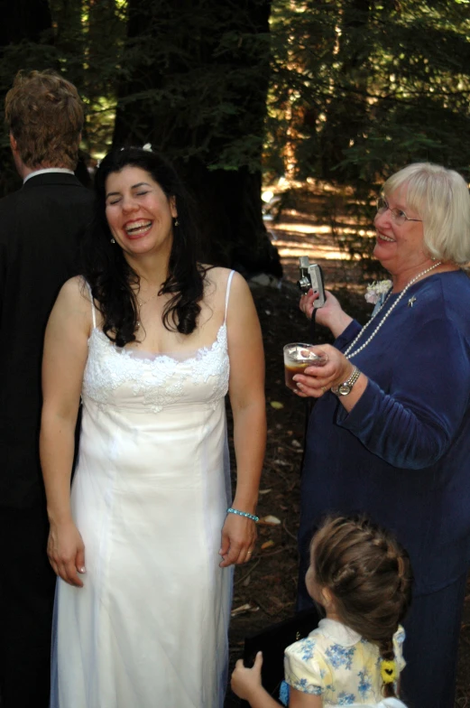
<instances>
[{"instance_id":1,"label":"bride's bare left-side arm and hand, without a bracelet","mask_svg":"<svg viewBox=\"0 0 470 708\"><path fill-rule=\"evenodd\" d=\"M51 525L48 555L54 572L83 585L84 545L70 514L73 464L83 371L88 355L91 304L79 278L60 290L44 339L42 359L41 468Z\"/></svg>"}]
</instances>

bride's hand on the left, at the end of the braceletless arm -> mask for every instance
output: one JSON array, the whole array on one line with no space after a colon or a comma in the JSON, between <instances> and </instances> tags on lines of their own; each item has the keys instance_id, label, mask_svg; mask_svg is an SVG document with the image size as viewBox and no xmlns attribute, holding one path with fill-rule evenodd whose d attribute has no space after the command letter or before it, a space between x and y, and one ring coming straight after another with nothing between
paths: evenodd
<instances>
[{"instance_id":1,"label":"bride's hand on the left, at the end of the braceletless arm","mask_svg":"<svg viewBox=\"0 0 470 708\"><path fill-rule=\"evenodd\" d=\"M73 521L51 523L47 554L54 573L69 585L83 587L78 573L85 573L85 545Z\"/></svg>"}]
</instances>

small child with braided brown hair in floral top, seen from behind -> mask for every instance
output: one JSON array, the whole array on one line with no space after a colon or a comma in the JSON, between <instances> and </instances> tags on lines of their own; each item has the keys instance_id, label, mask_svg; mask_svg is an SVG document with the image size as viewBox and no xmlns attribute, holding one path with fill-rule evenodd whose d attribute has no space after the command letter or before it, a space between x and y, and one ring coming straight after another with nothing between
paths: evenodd
<instances>
[{"instance_id":1,"label":"small child with braided brown hair in floral top, seen from behind","mask_svg":"<svg viewBox=\"0 0 470 708\"><path fill-rule=\"evenodd\" d=\"M327 617L287 647L282 703L404 708L397 697L405 666L400 623L411 582L409 556L390 534L366 518L328 518L313 536L306 575L309 594ZM276 708L261 683L262 664L261 652L253 668L237 661L232 689L252 708Z\"/></svg>"}]
</instances>

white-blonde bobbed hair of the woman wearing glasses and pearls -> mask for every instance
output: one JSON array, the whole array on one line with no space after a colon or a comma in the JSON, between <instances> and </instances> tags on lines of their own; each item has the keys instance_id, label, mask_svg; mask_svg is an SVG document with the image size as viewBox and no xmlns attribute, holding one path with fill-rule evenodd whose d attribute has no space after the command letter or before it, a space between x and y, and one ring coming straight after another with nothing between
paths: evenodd
<instances>
[{"instance_id":1,"label":"white-blonde bobbed hair of the woman wearing glasses and pearls","mask_svg":"<svg viewBox=\"0 0 470 708\"><path fill-rule=\"evenodd\" d=\"M470 262L470 194L458 172L439 164L409 164L382 187L386 197L396 191L422 219L424 245L431 258L456 265Z\"/></svg>"}]
</instances>

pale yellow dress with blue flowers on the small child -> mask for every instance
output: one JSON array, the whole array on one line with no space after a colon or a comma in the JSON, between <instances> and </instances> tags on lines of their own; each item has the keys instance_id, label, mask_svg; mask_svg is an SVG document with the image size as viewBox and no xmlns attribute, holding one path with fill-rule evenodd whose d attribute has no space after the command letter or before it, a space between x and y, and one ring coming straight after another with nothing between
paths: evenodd
<instances>
[{"instance_id":1,"label":"pale yellow dress with blue flowers on the small child","mask_svg":"<svg viewBox=\"0 0 470 708\"><path fill-rule=\"evenodd\" d=\"M397 674L405 666L402 627L393 636ZM303 694L321 695L324 708L379 703L381 658L376 645L334 619L321 619L309 637L287 647L285 680Z\"/></svg>"}]
</instances>

